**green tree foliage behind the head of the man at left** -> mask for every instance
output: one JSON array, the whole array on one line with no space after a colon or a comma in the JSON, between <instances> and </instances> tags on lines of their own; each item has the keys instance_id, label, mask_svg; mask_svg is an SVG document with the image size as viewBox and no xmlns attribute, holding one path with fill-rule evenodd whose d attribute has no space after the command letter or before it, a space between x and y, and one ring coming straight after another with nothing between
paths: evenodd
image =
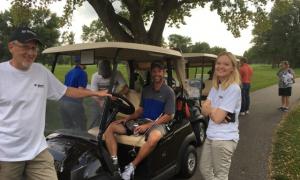
<instances>
[{"instance_id":1,"label":"green tree foliage behind the head of the man at left","mask_svg":"<svg viewBox=\"0 0 300 180\"><path fill-rule=\"evenodd\" d=\"M36 31L44 44L43 48L57 45L60 32L60 18L50 12L49 9L38 8L32 9L14 4L9 11L0 13L0 37L2 42L2 50L0 51L0 59L9 59L7 50L7 41L11 32L18 26L29 26ZM38 61L45 63L45 58L39 56Z\"/></svg>"}]
</instances>

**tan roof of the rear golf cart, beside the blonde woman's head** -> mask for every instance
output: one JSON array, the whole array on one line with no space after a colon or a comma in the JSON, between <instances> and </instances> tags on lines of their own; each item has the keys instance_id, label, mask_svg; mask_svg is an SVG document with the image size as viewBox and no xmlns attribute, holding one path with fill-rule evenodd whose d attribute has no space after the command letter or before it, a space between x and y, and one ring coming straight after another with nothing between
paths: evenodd
<instances>
[{"instance_id":1,"label":"tan roof of the rear golf cart, beside the blonde woman's head","mask_svg":"<svg viewBox=\"0 0 300 180\"><path fill-rule=\"evenodd\" d=\"M211 66L217 60L217 55L207 53L185 53L183 58L188 62L188 67Z\"/></svg>"}]
</instances>

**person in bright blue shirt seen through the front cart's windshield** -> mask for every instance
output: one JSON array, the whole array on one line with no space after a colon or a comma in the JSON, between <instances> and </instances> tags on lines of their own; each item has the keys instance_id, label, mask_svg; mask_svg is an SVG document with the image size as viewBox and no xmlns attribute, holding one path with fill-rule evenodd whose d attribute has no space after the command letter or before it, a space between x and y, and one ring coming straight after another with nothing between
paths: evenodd
<instances>
[{"instance_id":1,"label":"person in bright blue shirt seen through the front cart's windshield","mask_svg":"<svg viewBox=\"0 0 300 180\"><path fill-rule=\"evenodd\" d=\"M87 73L85 65L80 64L80 57L75 57L75 67L65 75L64 84L67 87L83 88L87 86ZM64 96L60 100L60 113L63 126L66 129L86 130L87 118L85 116L82 99Z\"/></svg>"}]
</instances>

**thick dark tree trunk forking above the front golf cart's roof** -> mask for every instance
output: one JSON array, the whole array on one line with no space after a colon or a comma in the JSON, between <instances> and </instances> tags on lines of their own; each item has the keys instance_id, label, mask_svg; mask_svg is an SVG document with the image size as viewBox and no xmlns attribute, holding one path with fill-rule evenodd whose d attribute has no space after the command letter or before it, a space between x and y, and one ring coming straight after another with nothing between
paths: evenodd
<instances>
[{"instance_id":1,"label":"thick dark tree trunk forking above the front golf cart's roof","mask_svg":"<svg viewBox=\"0 0 300 180\"><path fill-rule=\"evenodd\" d=\"M109 0L88 0L95 9L102 23L107 27L112 37L117 41L136 42L160 46L166 21L177 1L167 0L164 3L157 1L154 18L149 31L140 12L139 4L133 0L124 0L130 12L130 20L115 13L115 9Z\"/></svg>"}]
</instances>

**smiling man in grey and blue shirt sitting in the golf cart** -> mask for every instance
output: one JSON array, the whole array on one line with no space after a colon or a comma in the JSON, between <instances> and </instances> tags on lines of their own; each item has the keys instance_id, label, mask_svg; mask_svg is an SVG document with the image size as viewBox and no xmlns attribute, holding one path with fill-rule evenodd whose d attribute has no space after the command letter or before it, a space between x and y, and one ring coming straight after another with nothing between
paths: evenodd
<instances>
[{"instance_id":1,"label":"smiling man in grey and blue shirt sitting in the golf cart","mask_svg":"<svg viewBox=\"0 0 300 180\"><path fill-rule=\"evenodd\" d=\"M107 149L113 159L113 164L118 166L117 141L115 134L146 134L147 141L140 148L136 158L125 167L122 173L124 180L134 175L136 166L149 155L156 147L159 140L167 133L165 124L175 113L174 91L164 81L164 65L155 61L151 64L152 83L143 88L140 107L131 115L112 122L104 133ZM145 124L134 128L134 132L125 127L125 122L138 118L150 119Z\"/></svg>"}]
</instances>

